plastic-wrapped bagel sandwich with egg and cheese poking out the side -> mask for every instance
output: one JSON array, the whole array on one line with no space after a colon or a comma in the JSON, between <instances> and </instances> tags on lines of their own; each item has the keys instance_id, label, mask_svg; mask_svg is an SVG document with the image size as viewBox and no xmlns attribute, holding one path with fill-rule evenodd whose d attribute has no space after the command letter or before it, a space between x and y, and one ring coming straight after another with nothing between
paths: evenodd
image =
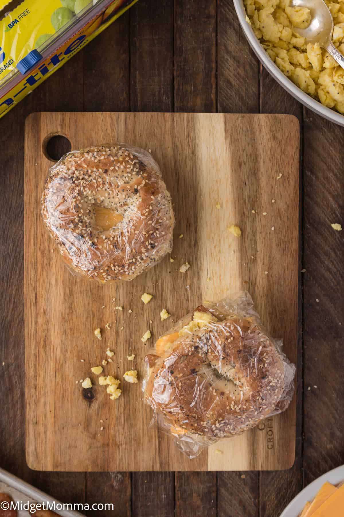
<instances>
[{"instance_id":1,"label":"plastic-wrapped bagel sandwich with egg and cheese poking out the side","mask_svg":"<svg viewBox=\"0 0 344 517\"><path fill-rule=\"evenodd\" d=\"M144 401L151 423L189 458L224 437L284 411L296 372L253 308L247 292L204 302L146 355Z\"/></svg>"}]
</instances>

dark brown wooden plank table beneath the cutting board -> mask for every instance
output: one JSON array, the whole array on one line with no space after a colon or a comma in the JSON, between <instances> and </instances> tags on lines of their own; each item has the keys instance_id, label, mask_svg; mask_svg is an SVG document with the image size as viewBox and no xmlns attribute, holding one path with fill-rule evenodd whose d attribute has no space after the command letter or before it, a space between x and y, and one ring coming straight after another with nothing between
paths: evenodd
<instances>
[{"instance_id":1,"label":"dark brown wooden plank table beneath the cutting board","mask_svg":"<svg viewBox=\"0 0 344 517\"><path fill-rule=\"evenodd\" d=\"M23 164L24 120L34 111L261 112L299 118L300 271L306 271L299 282L296 461L290 470L63 474L28 469ZM113 503L115 511L96 512L101 517L277 517L304 485L344 463L344 240L331 228L342 222L344 209L344 130L304 109L261 68L232 0L199 0L196 6L192 0L139 0L0 120L0 143L3 468L66 503Z\"/></svg>"}]
</instances>

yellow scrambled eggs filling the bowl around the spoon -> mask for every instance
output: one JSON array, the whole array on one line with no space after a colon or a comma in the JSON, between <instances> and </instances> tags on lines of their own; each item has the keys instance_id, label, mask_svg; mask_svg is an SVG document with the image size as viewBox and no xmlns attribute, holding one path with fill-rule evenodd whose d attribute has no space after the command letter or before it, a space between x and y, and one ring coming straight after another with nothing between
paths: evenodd
<instances>
[{"instance_id":1,"label":"yellow scrambled eggs filling the bowl around the spoon","mask_svg":"<svg viewBox=\"0 0 344 517\"><path fill-rule=\"evenodd\" d=\"M334 19L333 43L344 54L344 0L325 0ZM344 114L344 70L319 44L305 42L297 29L310 23L306 7L291 0L244 0L253 32L273 62L305 93Z\"/></svg>"}]
</instances>

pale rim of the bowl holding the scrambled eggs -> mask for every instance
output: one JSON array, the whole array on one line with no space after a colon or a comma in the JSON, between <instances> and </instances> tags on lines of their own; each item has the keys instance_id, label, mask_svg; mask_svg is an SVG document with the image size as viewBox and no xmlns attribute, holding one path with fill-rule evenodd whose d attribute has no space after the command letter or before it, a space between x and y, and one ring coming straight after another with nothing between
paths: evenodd
<instances>
[{"instance_id":1,"label":"pale rim of the bowl holding the scrambled eggs","mask_svg":"<svg viewBox=\"0 0 344 517\"><path fill-rule=\"evenodd\" d=\"M242 0L233 0L234 7L237 12L241 28L247 37L252 50L264 65L264 67L273 75L277 83L283 86L294 98L298 99L307 108L318 113L327 120L331 120L340 126L344 126L344 115L341 115L337 111L326 108L321 102L313 99L309 95L305 94L298 86L296 86L290 79L284 75L283 72L277 67L274 62L270 59L269 55L265 52L261 46L259 40L256 38L251 25L246 20L246 11Z\"/></svg>"}]
</instances>

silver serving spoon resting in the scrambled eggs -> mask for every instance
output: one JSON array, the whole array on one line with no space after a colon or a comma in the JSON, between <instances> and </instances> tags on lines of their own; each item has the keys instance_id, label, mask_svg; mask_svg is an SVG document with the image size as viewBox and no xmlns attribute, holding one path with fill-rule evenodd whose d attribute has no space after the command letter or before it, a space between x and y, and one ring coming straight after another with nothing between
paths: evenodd
<instances>
[{"instance_id":1,"label":"silver serving spoon resting in the scrambled eggs","mask_svg":"<svg viewBox=\"0 0 344 517\"><path fill-rule=\"evenodd\" d=\"M306 38L307 43L319 43L344 68L344 57L332 43L333 18L323 0L292 0L294 7L308 7L311 21L306 29L295 27L295 32Z\"/></svg>"}]
</instances>

